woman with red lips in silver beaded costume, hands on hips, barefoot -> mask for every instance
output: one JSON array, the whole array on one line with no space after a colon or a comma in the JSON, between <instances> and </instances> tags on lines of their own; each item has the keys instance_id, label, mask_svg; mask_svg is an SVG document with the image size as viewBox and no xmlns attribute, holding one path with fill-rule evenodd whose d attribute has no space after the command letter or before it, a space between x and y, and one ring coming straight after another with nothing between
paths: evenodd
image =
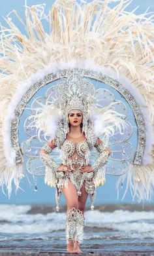
<instances>
[{"instance_id":1,"label":"woman with red lips in silver beaded costume, hands on hips, barefoot","mask_svg":"<svg viewBox=\"0 0 154 256\"><path fill-rule=\"evenodd\" d=\"M69 111L68 119L69 132L66 134L66 139L61 147L62 164L57 166L57 168L55 167L55 186L57 187L58 196L59 192L62 191L67 201L67 251L69 253L82 253L79 243L83 237L85 203L88 194L90 194L92 201L91 209L93 209L99 168L105 164L110 154L110 149L104 147L102 141L97 138L94 147L99 152L99 158L97 158L93 166L89 165L91 146L85 137L85 132L82 132L82 110L72 109ZM40 151L40 158L46 165L48 165L49 161L44 156L55 147L57 147L57 142L56 139L53 139ZM50 162L50 164L52 163ZM50 165L48 167L50 168ZM48 172L50 175L50 170ZM46 174L46 183L49 184L50 178L48 174ZM102 179L101 175L100 179ZM104 182L103 173L103 179L99 180L99 185Z\"/></svg>"}]
</instances>

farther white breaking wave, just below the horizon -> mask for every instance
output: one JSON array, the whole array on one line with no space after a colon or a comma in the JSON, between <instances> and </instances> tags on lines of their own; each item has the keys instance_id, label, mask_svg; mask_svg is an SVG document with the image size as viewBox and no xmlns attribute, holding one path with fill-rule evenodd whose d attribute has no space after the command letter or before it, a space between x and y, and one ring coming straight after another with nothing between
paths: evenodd
<instances>
[{"instance_id":1,"label":"farther white breaking wave, just below the horizon","mask_svg":"<svg viewBox=\"0 0 154 256\"><path fill-rule=\"evenodd\" d=\"M45 207L46 208L46 207ZM65 212L48 212L31 213L32 206L30 205L0 205L0 222L9 223L35 223L37 221L52 221L52 223L61 222L65 219ZM85 211L85 219L89 223L123 223L126 221L153 221L154 211L100 211L89 210Z\"/></svg>"}]
</instances>

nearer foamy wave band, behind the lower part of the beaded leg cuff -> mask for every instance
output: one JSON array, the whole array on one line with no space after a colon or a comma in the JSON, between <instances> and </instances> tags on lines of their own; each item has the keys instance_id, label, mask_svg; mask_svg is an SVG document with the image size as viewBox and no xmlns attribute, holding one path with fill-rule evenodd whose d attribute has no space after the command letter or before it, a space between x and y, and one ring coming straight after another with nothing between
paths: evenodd
<instances>
[{"instance_id":1,"label":"nearer foamy wave band, behind the lower part of the beaded leg cuff","mask_svg":"<svg viewBox=\"0 0 154 256\"><path fill-rule=\"evenodd\" d=\"M65 223L46 223L33 224L33 225L0 225L0 234L16 234L20 238L23 238L23 234L41 234L40 238L44 240L46 236L54 236L53 232L63 232L65 233ZM85 226L85 239L106 239L106 238L118 238L118 239L144 239L144 238L154 238L154 227L149 223L108 223L99 226L99 229L89 230L89 225ZM0 240L1 240L0 235ZM9 238L10 239L10 238ZM29 239L29 238L28 238ZM25 238L23 238L25 240Z\"/></svg>"}]
</instances>

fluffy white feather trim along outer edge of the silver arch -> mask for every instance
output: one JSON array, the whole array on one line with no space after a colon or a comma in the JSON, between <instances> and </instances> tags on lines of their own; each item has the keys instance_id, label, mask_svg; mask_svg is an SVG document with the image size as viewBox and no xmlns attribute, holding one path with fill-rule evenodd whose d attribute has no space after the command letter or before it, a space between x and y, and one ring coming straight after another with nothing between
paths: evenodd
<instances>
[{"instance_id":1,"label":"fluffy white feather trim along outer edge of the silver arch","mask_svg":"<svg viewBox=\"0 0 154 256\"><path fill-rule=\"evenodd\" d=\"M80 65L79 65L80 64ZM33 77L31 77L31 79L29 79L28 81L25 82L25 84L20 84L21 85L21 90L19 90L18 92L16 92L16 94L14 94L14 97L12 98L12 101L10 102L10 106L8 109L8 115L7 117L5 117L5 122L4 122L4 129L6 132L3 133L3 136L6 137L4 143L5 143L5 156L7 158L8 161L10 161L10 153L9 151L12 152L12 148L10 145L10 122L12 121L12 119L14 119L14 110L16 109L18 103L20 102L20 100L22 99L22 96L25 94L25 92L33 85L33 83L38 81L39 79L43 79L45 75L48 75L48 73L57 73L59 72L61 69L63 69L64 67L67 69L71 69L73 67L76 68L84 68L87 70L94 70L94 71L99 71L104 75L109 75L110 77L117 79L117 74L115 73L114 70L112 69L106 69L104 67L100 67L99 65L95 64L94 62L89 62L89 60L80 60L78 61L72 61L70 63L59 63L59 64L52 64L48 67L46 67L46 69L38 71L36 74L33 75ZM50 70L50 71L49 71ZM39 75L38 75L39 74ZM112 74L112 75L111 75ZM122 76L123 77L123 76ZM119 81L120 81L120 76L119 76ZM125 81L128 82L129 86L131 85L131 82L129 82L128 79L125 78ZM123 86L125 86L132 94L132 96L136 96L136 101L138 102L138 104L140 105L140 103L142 102L143 104L143 96L138 92L138 90L133 87L133 90L131 90L131 88L128 88L128 84L123 84ZM134 93L135 92L135 93ZM141 100L141 101L140 101ZM144 105L146 105L146 103L144 103ZM144 119L146 120L146 128L147 128L147 134L151 135L153 134L153 132L151 132L151 123L149 122L148 116L147 115L147 110L143 110L141 108L141 111L144 115ZM102 126L102 124L100 124L100 127ZM95 126L96 127L96 126ZM5 134L5 135L4 135ZM151 139L151 136L147 136L147 141L146 141L146 150L144 152L144 164L149 163L149 161L151 162L151 148L152 148L152 143L153 143L153 138ZM8 145L10 145L8 147ZM12 158L12 160L14 161L14 156Z\"/></svg>"}]
</instances>

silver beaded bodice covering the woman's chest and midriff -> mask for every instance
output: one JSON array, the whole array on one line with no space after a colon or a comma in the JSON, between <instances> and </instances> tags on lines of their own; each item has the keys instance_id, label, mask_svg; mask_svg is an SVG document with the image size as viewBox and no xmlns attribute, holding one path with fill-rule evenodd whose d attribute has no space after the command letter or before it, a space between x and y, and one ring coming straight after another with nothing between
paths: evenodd
<instances>
[{"instance_id":1,"label":"silver beaded bodice covering the woman's chest and midriff","mask_svg":"<svg viewBox=\"0 0 154 256\"><path fill-rule=\"evenodd\" d=\"M72 170L87 165L89 156L90 150L86 139L77 143L66 139L61 147L62 163Z\"/></svg>"}]
</instances>

